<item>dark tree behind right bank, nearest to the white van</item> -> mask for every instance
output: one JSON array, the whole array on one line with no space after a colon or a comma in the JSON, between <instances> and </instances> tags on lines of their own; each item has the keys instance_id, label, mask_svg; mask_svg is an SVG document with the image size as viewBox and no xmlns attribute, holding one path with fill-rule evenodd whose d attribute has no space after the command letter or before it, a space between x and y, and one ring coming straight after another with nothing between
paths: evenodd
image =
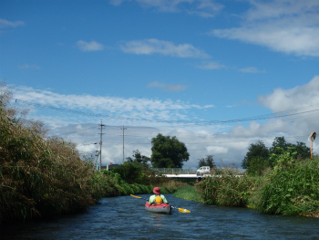
<instances>
[{"instance_id":1,"label":"dark tree behind right bank, nearest to the white van","mask_svg":"<svg viewBox=\"0 0 319 240\"><path fill-rule=\"evenodd\" d=\"M263 141L257 141L256 143L252 143L250 145L246 156L242 160L242 168L248 169L252 159L257 157L262 160L269 160L269 150L266 148Z\"/></svg>"}]
</instances>

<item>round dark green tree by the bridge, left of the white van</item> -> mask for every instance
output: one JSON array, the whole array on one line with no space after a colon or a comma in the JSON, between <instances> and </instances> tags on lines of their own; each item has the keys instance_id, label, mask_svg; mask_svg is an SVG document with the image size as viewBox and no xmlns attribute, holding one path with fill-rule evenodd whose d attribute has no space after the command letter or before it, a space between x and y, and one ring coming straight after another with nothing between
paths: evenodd
<instances>
[{"instance_id":1,"label":"round dark green tree by the bridge, left of the white van","mask_svg":"<svg viewBox=\"0 0 319 240\"><path fill-rule=\"evenodd\" d=\"M176 137L158 134L151 140L150 162L155 168L181 168L183 162L189 161L190 154L185 144Z\"/></svg>"}]
</instances>

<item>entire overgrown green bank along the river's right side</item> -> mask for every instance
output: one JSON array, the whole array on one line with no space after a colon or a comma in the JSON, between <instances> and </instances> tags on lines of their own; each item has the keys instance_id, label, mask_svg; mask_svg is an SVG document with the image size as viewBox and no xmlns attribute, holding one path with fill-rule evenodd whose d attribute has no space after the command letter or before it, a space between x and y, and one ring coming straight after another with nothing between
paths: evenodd
<instances>
[{"instance_id":1,"label":"entire overgrown green bank along the river's right side","mask_svg":"<svg viewBox=\"0 0 319 240\"><path fill-rule=\"evenodd\" d=\"M225 168L196 185L200 202L258 209L265 214L319 216L319 158L294 160L284 152L262 175Z\"/></svg>"}]
</instances>

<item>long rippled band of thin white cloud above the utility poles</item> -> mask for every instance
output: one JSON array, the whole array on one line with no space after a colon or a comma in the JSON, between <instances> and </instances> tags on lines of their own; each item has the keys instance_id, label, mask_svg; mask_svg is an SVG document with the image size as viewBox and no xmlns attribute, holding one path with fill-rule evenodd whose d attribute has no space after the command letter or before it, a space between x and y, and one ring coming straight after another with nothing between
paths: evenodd
<instances>
[{"instance_id":1,"label":"long rippled band of thin white cloud above the utility poles","mask_svg":"<svg viewBox=\"0 0 319 240\"><path fill-rule=\"evenodd\" d=\"M179 86L165 86L167 90L178 90ZM15 88L15 99L27 102L36 102L57 108L85 111L84 117L99 117L113 120L146 120L174 121L185 118L184 110L204 109L207 106L192 105L187 102L173 101L170 99L136 99L101 97L91 95L63 95L49 90L39 90L27 87ZM72 113L72 112L71 112ZM103 114L101 114L103 113ZM81 115L81 114L80 114Z\"/></svg>"}]
</instances>

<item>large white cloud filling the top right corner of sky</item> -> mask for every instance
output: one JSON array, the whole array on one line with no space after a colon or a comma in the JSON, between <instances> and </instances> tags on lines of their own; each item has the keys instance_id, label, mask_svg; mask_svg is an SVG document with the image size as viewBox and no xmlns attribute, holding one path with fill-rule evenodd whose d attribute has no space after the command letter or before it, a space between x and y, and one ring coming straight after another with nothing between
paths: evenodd
<instances>
[{"instance_id":1,"label":"large white cloud filling the top right corner of sky","mask_svg":"<svg viewBox=\"0 0 319 240\"><path fill-rule=\"evenodd\" d=\"M251 1L241 27L214 29L212 36L241 40L297 56L319 56L318 1Z\"/></svg>"}]
</instances>

